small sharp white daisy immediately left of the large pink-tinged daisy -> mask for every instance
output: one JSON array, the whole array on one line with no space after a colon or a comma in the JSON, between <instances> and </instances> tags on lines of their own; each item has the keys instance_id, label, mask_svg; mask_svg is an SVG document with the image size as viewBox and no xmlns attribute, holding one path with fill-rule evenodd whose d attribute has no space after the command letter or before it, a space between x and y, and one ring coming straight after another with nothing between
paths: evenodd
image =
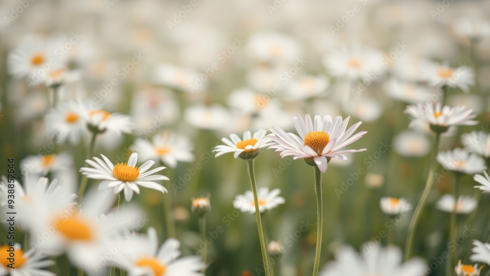
<instances>
[{"instance_id":1,"label":"small sharp white daisy immediately left of the large pink-tinged daisy","mask_svg":"<svg viewBox=\"0 0 490 276\"><path fill-rule=\"evenodd\" d=\"M213 152L217 152L215 157L221 156L228 152L235 152L233 156L235 158L253 159L260 154L260 149L268 147L273 143L266 137L266 130L261 129L255 132L252 136L249 130L244 132L243 139L237 134L230 134L230 139L223 137L221 141L226 145L218 145L214 148Z\"/></svg>"}]
</instances>

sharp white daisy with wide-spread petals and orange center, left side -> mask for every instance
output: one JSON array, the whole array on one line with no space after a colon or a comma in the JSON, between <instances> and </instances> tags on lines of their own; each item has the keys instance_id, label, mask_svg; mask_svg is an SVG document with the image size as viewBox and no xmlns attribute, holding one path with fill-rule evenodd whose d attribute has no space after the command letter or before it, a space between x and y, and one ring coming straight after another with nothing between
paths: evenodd
<instances>
[{"instance_id":1,"label":"sharp white daisy with wide-spread petals and orange center, left side","mask_svg":"<svg viewBox=\"0 0 490 276\"><path fill-rule=\"evenodd\" d=\"M157 190L162 193L167 193L167 189L158 184L155 181L158 180L170 180L167 176L153 175L159 172L165 167L158 167L151 171L148 171L155 161L148 160L141 167L136 167L138 161L138 153L134 152L129 156L127 163L112 164L109 158L100 154L102 159L94 157L94 160L85 160L87 164L93 168L83 167L80 169L82 175L86 175L88 178L100 179L102 182L98 185L99 190L114 189L114 194L119 194L124 190L124 199L131 201L133 198L133 192L140 194L139 186L149 189Z\"/></svg>"}]
</instances>

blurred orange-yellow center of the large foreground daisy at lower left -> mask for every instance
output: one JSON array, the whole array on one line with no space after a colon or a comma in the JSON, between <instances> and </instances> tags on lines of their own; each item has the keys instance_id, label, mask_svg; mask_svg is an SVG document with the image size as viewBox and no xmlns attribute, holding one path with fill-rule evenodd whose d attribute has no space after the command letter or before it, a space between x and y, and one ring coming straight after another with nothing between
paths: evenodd
<instances>
[{"instance_id":1,"label":"blurred orange-yellow center of the large foreground daisy at lower left","mask_svg":"<svg viewBox=\"0 0 490 276\"><path fill-rule=\"evenodd\" d=\"M71 241L89 241L92 239L92 231L90 230L89 222L80 216L73 215L68 219L58 218L53 224L65 238Z\"/></svg>"}]
</instances>

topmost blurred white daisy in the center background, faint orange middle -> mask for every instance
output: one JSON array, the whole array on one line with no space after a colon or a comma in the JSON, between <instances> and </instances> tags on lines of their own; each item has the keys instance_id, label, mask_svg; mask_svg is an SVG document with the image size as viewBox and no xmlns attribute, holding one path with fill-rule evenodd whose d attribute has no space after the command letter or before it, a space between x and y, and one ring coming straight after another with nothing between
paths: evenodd
<instances>
[{"instance_id":1,"label":"topmost blurred white daisy in the center background, faint orange middle","mask_svg":"<svg viewBox=\"0 0 490 276\"><path fill-rule=\"evenodd\" d=\"M301 57L299 43L290 36L276 32L259 32L248 38L248 55L258 62L291 63Z\"/></svg>"}]
</instances>

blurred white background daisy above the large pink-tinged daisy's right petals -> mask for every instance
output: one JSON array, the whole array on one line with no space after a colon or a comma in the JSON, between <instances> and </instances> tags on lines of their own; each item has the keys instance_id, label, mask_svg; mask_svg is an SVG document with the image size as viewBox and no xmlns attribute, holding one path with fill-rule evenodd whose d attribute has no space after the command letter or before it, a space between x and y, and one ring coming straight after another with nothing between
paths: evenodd
<instances>
[{"instance_id":1,"label":"blurred white background daisy above the large pink-tinged daisy's right petals","mask_svg":"<svg viewBox=\"0 0 490 276\"><path fill-rule=\"evenodd\" d=\"M382 59L381 51L355 45L341 51L332 51L323 57L323 64L333 76L358 79L373 74L376 69L384 68L381 65Z\"/></svg>"}]
</instances>

